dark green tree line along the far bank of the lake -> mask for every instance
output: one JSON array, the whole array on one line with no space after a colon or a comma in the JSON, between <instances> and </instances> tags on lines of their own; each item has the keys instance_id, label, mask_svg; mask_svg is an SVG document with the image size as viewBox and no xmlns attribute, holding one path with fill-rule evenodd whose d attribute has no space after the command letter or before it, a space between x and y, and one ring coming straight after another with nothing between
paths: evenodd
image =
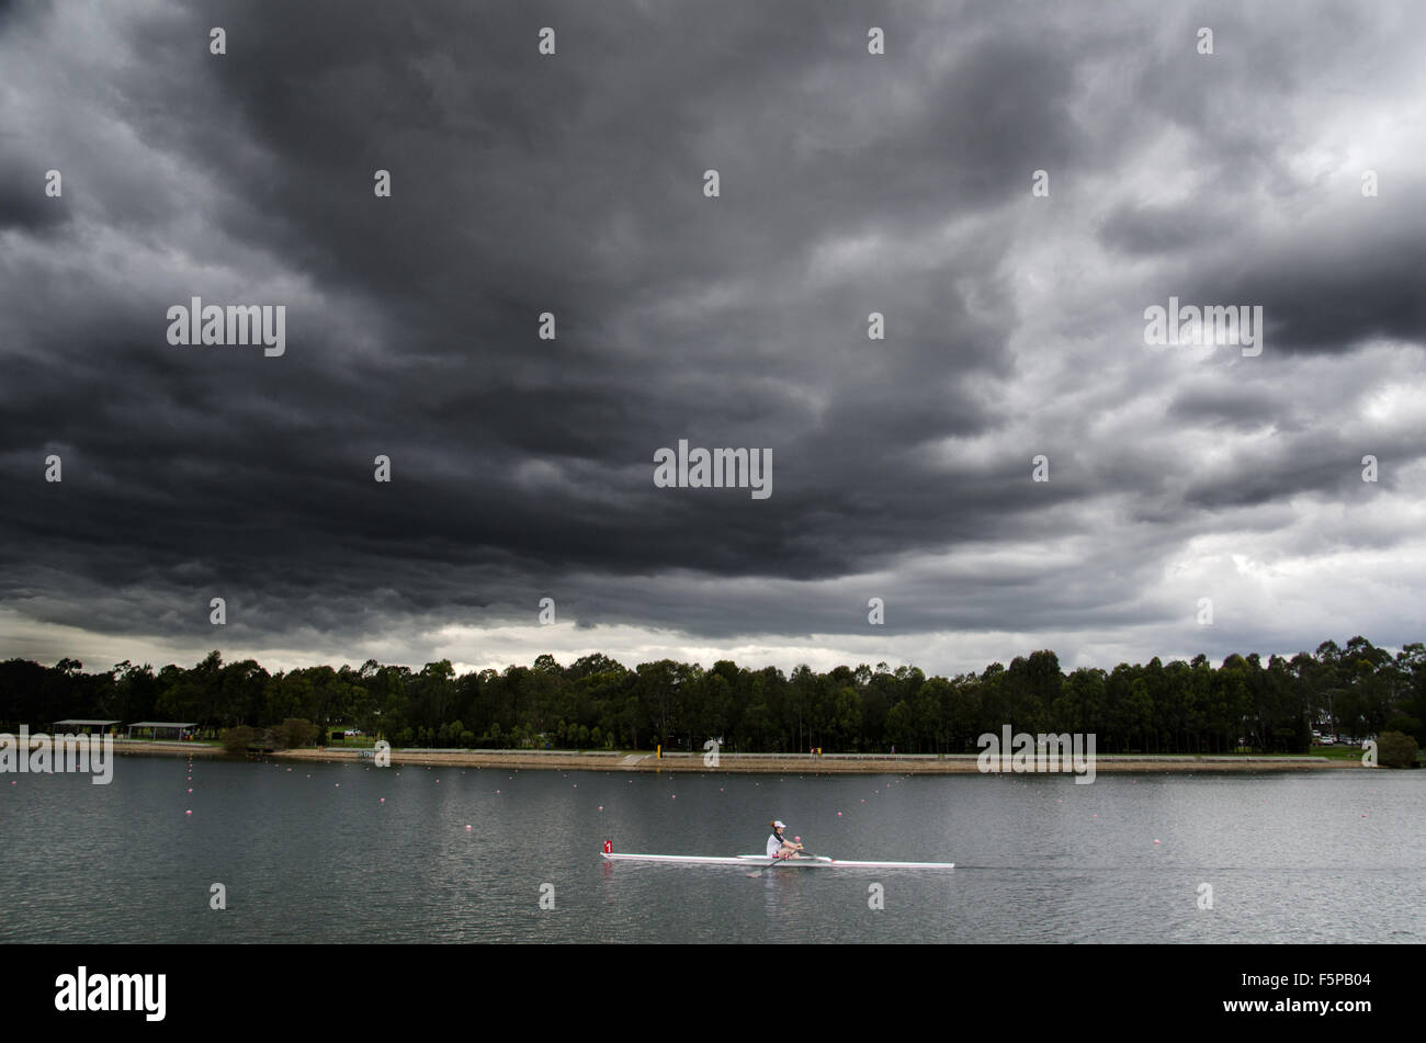
<instances>
[{"instance_id":1,"label":"dark green tree line along the far bank of the lake","mask_svg":"<svg viewBox=\"0 0 1426 1043\"><path fill-rule=\"evenodd\" d=\"M884 663L790 675L727 660L630 670L602 654L462 675L449 660L270 674L217 651L157 673L127 661L97 674L74 660L0 663L0 724L63 718L197 721L210 735L250 727L289 741L289 722L309 721L321 735L356 728L396 747L702 751L714 738L729 752L975 752L978 735L1010 724L1094 732L1105 754L1305 752L1315 728L1356 738L1393 730L1426 745L1426 645L1393 657L1353 637L1268 663L1235 654L1212 667L1198 655L1068 674L1052 651L1037 651L955 677Z\"/></svg>"}]
</instances>

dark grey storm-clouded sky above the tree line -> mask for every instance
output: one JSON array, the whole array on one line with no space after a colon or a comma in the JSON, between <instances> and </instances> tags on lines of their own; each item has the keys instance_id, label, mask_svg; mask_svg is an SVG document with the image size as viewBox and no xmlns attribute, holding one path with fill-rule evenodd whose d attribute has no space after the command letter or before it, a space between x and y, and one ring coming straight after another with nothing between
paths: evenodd
<instances>
[{"instance_id":1,"label":"dark grey storm-clouded sky above the tree line","mask_svg":"<svg viewBox=\"0 0 1426 1043\"><path fill-rule=\"evenodd\" d=\"M1423 38L1416 3L0 0L0 657L1422 640ZM1145 343L1171 295L1261 305L1262 353ZM285 305L285 353L171 346L193 296ZM770 449L773 494L656 487L679 439Z\"/></svg>"}]
</instances>

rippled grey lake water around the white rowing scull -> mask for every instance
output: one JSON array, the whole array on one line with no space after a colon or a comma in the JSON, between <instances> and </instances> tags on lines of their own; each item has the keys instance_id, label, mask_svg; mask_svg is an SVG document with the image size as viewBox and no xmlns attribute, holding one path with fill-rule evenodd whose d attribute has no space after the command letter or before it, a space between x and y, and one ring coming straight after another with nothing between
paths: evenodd
<instances>
[{"instance_id":1,"label":"rippled grey lake water around the white rowing scull","mask_svg":"<svg viewBox=\"0 0 1426 1043\"><path fill-rule=\"evenodd\" d=\"M200 758L188 775L121 757L107 787L0 777L0 940L1426 942L1426 772L1074 785ZM817 853L957 868L599 858L606 838L761 852L774 816Z\"/></svg>"}]
</instances>

